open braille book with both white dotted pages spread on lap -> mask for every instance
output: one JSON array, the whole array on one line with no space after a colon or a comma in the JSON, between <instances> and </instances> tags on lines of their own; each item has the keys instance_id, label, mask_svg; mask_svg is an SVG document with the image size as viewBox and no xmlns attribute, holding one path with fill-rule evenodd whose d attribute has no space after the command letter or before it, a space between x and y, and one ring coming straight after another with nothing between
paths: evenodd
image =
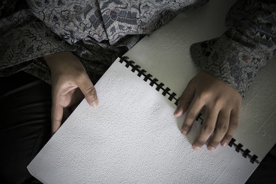
<instances>
[{"instance_id":1,"label":"open braille book with both white dotted pages spread on lap","mask_svg":"<svg viewBox=\"0 0 276 184\"><path fill-rule=\"evenodd\" d=\"M84 99L28 165L29 172L43 183L246 182L276 142L276 62L256 76L226 147L193 150L203 116L188 136L180 132L186 114L173 116L197 74L190 45L219 36L233 2L210 1L179 14L118 58L95 85L97 108Z\"/></svg>"}]
</instances>

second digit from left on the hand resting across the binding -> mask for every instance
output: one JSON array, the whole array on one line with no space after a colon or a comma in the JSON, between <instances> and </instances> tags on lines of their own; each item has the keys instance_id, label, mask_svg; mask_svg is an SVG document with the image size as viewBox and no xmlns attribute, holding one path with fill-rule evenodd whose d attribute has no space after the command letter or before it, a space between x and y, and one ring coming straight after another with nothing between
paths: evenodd
<instances>
[{"instance_id":1,"label":"second digit from left on the hand resting across the binding","mask_svg":"<svg viewBox=\"0 0 276 184\"><path fill-rule=\"evenodd\" d=\"M195 119L197 118L200 110L204 106L204 101L202 101L196 94L193 98L193 101L190 103L190 106L187 110L184 123L181 127L181 134L188 134L190 127L193 125Z\"/></svg>"}]
</instances>

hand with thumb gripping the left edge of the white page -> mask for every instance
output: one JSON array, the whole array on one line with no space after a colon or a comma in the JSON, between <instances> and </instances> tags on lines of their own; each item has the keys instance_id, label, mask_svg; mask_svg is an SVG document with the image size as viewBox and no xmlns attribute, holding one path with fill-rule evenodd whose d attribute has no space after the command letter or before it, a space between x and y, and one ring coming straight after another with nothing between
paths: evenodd
<instances>
[{"instance_id":1,"label":"hand with thumb gripping the left edge of the white page","mask_svg":"<svg viewBox=\"0 0 276 184\"><path fill-rule=\"evenodd\" d=\"M52 134L83 99L92 107L98 105L97 93L83 65L71 52L59 52L43 57L52 76Z\"/></svg>"}]
</instances>

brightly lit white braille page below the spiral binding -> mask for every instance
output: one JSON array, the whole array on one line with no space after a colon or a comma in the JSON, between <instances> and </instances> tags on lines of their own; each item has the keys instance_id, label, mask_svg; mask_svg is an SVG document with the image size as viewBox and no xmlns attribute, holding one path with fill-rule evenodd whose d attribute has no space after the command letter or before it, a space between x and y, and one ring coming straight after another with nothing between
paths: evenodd
<instances>
[{"instance_id":1,"label":"brightly lit white braille page below the spiral binding","mask_svg":"<svg viewBox=\"0 0 276 184\"><path fill-rule=\"evenodd\" d=\"M43 183L244 183L257 164L233 147L193 151L175 105L115 61L28 165Z\"/></svg>"}]
</instances>

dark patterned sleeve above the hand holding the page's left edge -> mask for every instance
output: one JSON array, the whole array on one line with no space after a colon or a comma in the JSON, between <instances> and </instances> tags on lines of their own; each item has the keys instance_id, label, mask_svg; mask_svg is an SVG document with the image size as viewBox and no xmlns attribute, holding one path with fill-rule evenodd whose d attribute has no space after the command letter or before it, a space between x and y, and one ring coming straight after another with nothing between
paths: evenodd
<instances>
[{"instance_id":1,"label":"dark patterned sleeve above the hand holding the page's left edge","mask_svg":"<svg viewBox=\"0 0 276 184\"><path fill-rule=\"evenodd\" d=\"M75 45L58 37L43 21L34 17L28 6L0 19L0 35L0 76L19 70L30 72L30 67L40 62L39 57L75 50Z\"/></svg>"}]
</instances>

